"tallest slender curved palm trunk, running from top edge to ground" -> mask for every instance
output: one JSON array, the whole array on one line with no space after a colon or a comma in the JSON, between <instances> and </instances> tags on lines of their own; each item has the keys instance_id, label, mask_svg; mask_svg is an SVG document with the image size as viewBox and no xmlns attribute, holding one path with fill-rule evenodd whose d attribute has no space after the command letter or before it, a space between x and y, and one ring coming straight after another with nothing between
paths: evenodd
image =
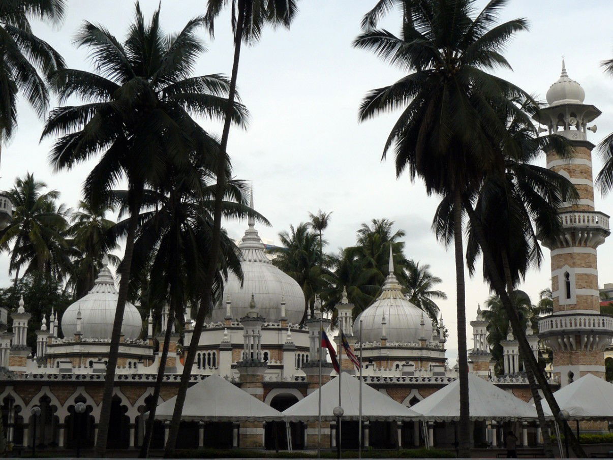
<instances>
[{"instance_id":1,"label":"tallest slender curved palm trunk, running from top edge to ground","mask_svg":"<svg viewBox=\"0 0 613 460\"><path fill-rule=\"evenodd\" d=\"M175 410L172 414L170 422L170 431L164 457L169 458L175 451L177 445L177 436L179 433L179 424L181 422L181 413L183 413L183 404L185 404L185 394L188 391L189 378L191 370L194 366L196 358L196 347L200 341L202 334L202 326L204 325L205 316L208 311L208 305L211 304L213 292L213 279L218 267L219 258L219 243L221 242L221 210L224 191L226 188L226 149L228 137L230 135L230 123L232 122L232 108L234 106L234 98L236 96L236 82L238 77L238 64L240 63L240 45L243 40L243 20L245 17L245 0L238 0L238 18L236 31L234 34L234 61L232 63L232 75L230 77L230 88L228 92L228 105L226 107L226 116L224 119L224 128L221 133L221 145L219 145L219 154L217 159L217 185L215 190L215 210L213 212L213 234L211 235L210 257L208 260L207 271L205 272L204 280L202 280L203 295L200 301L200 308L196 316L196 324L194 324L194 332L191 342L189 342L188 355L185 359L183 374L179 383L177 401L175 402Z\"/></svg>"}]
</instances>

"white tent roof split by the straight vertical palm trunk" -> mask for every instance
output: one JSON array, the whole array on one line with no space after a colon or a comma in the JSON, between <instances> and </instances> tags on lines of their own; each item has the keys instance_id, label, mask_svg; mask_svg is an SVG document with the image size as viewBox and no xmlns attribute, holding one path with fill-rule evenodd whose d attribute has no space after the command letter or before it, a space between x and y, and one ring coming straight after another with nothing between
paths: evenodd
<instances>
[{"instance_id":1,"label":"white tent roof split by the straight vertical palm trunk","mask_svg":"<svg viewBox=\"0 0 613 460\"><path fill-rule=\"evenodd\" d=\"M493 383L468 374L471 420L532 420L536 409ZM411 407L425 420L460 420L460 380L456 379Z\"/></svg>"}]
</instances>

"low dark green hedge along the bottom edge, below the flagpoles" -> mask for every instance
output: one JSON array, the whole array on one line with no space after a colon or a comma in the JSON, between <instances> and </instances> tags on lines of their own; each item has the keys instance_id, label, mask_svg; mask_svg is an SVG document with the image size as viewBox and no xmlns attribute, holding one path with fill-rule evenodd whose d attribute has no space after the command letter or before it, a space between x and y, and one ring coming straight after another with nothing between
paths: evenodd
<instances>
[{"instance_id":1,"label":"low dark green hedge along the bottom edge, below the flagpoles","mask_svg":"<svg viewBox=\"0 0 613 460\"><path fill-rule=\"evenodd\" d=\"M430 449L403 449L403 450L369 450L362 451L367 458L455 458L450 450ZM357 450L344 451L343 458L357 458ZM199 449L177 450L174 458L317 458L316 453L305 451L262 451L243 449ZM321 458L337 458L335 451L322 451Z\"/></svg>"}]
</instances>

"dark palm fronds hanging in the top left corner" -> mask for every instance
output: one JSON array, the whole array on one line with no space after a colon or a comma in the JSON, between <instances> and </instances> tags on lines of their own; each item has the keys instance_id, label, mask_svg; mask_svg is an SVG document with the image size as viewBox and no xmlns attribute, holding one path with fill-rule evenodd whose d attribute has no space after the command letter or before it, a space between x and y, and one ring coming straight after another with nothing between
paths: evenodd
<instances>
[{"instance_id":1,"label":"dark palm fronds hanging in the top left corner","mask_svg":"<svg viewBox=\"0 0 613 460\"><path fill-rule=\"evenodd\" d=\"M64 59L32 33L30 20L60 23L65 5L65 0L9 0L0 4L0 153L4 140L10 139L17 128L19 93L40 118L47 115L49 93L44 79L64 67Z\"/></svg>"}]
</instances>

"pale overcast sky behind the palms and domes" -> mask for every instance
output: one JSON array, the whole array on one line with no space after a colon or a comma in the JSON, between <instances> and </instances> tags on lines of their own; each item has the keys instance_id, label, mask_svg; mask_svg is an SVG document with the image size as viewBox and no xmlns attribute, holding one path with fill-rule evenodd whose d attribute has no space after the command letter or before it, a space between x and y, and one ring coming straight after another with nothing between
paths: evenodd
<instances>
[{"instance_id":1,"label":"pale overcast sky behind the palms and domes","mask_svg":"<svg viewBox=\"0 0 613 460\"><path fill-rule=\"evenodd\" d=\"M158 0L142 0L150 15ZM162 0L161 20L167 32L180 30L190 18L201 15L204 0ZM255 47L243 48L238 88L251 112L247 131L230 132L229 153L235 175L253 180L256 209L272 223L259 228L265 239L277 240L278 232L308 219L308 212L332 211L326 232L330 250L352 245L360 223L373 218L394 220L406 231L406 256L430 264L443 278L441 288L449 296L440 302L449 327L447 357L457 355L455 321L455 274L452 251L436 242L430 231L438 199L425 194L422 183L395 177L392 161L381 162L384 140L397 113L367 123L357 122L364 94L389 85L402 72L379 61L371 53L351 47L359 33L360 18L375 0L302 0L291 31L265 30ZM483 1L478 2L484 4ZM61 28L35 24L36 33L48 40L67 65L91 69L85 50L72 39L83 20L101 23L118 38L132 19L134 4L128 0L69 0ZM530 32L517 35L506 52L514 72L499 74L544 99L549 86L560 76L562 55L571 79L585 89L585 102L603 112L596 120L598 132L590 133L597 144L613 131L613 80L601 71L603 59L613 57L613 2L602 0L511 0L503 20L525 17ZM398 17L385 25L397 32ZM196 74L229 75L232 40L229 16L224 14L212 40L202 32L208 52L200 59ZM219 123L205 123L220 132ZM74 207L81 196L86 172L93 163L70 172L54 172L48 163L51 140L39 144L42 121L20 104L19 128L2 150L0 188L9 188L16 176L27 171L61 191L61 199ZM596 155L595 155L596 157ZM540 162L544 166L544 158ZM595 158L595 172L601 161ZM596 196L596 209L613 212L613 196ZM232 236L242 236L245 223L226 223ZM549 255L543 268L530 272L522 286L538 300L538 292L550 285ZM613 242L599 248L600 285L613 282ZM7 285L7 256L0 256L0 285ZM489 296L481 276L466 283L468 321L477 304ZM468 331L471 337L471 331ZM471 340L468 341L470 348Z\"/></svg>"}]
</instances>

